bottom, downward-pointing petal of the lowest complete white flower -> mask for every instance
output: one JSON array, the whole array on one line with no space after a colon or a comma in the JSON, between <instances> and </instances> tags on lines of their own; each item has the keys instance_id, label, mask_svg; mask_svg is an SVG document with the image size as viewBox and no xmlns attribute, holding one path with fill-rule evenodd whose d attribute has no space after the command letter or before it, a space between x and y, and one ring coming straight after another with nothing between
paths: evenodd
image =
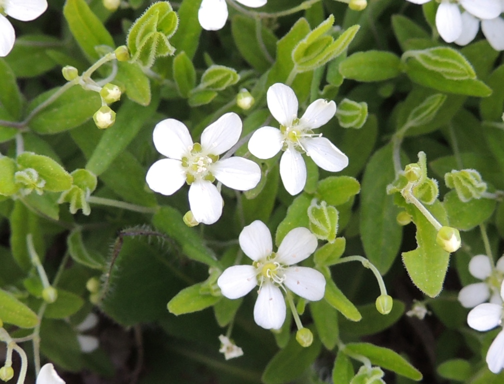
<instances>
[{"instance_id":1,"label":"bottom, downward-pointing petal of the lowest complete white flower","mask_svg":"<svg viewBox=\"0 0 504 384\"><path fill-rule=\"evenodd\" d=\"M285 321L285 301L280 288L265 281L254 305L254 320L267 330L280 329Z\"/></svg>"}]
</instances>

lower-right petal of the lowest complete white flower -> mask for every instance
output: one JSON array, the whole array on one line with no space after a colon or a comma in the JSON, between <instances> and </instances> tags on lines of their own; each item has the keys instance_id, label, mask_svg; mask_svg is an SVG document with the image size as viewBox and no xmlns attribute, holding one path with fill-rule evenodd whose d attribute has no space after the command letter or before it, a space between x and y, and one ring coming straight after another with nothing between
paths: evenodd
<instances>
[{"instance_id":1,"label":"lower-right petal of the lowest complete white flower","mask_svg":"<svg viewBox=\"0 0 504 384\"><path fill-rule=\"evenodd\" d=\"M324 297L326 279L319 271L307 267L289 267L284 273L285 286L296 295L310 301L317 301Z\"/></svg>"}]
</instances>

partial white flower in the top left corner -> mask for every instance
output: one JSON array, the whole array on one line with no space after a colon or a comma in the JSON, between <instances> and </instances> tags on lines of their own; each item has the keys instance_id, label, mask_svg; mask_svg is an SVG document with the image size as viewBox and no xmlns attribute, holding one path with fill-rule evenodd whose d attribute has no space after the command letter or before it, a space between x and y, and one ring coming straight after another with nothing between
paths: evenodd
<instances>
[{"instance_id":1,"label":"partial white flower in the top left corner","mask_svg":"<svg viewBox=\"0 0 504 384\"><path fill-rule=\"evenodd\" d=\"M16 40L14 27L4 15L21 21L31 21L42 15L46 9L46 0L0 0L0 57L9 54Z\"/></svg>"}]
</instances>

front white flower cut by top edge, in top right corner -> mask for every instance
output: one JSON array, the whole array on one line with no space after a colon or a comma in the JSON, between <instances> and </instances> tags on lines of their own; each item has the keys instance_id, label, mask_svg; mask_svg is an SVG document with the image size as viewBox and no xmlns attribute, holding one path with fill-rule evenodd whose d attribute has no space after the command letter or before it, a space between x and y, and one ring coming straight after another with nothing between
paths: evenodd
<instances>
[{"instance_id":1,"label":"front white flower cut by top edge, in top right corner","mask_svg":"<svg viewBox=\"0 0 504 384\"><path fill-rule=\"evenodd\" d=\"M430 0L408 1L415 4L430 2ZM460 6L472 16L483 20L491 20L498 17L502 12L500 2L501 0L457 0L455 2L453 0L441 0L436 11L437 32L447 43L453 43L457 39L463 38L461 35L465 36L470 32L464 30L464 24L468 23L467 16L462 16ZM476 33L474 36L476 36Z\"/></svg>"}]
</instances>

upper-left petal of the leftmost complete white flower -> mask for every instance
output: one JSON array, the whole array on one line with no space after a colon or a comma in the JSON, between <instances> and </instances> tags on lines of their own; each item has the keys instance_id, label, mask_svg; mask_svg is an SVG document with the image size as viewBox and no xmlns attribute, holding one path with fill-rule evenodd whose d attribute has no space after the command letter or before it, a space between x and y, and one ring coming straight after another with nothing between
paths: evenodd
<instances>
[{"instance_id":1,"label":"upper-left petal of the leftmost complete white flower","mask_svg":"<svg viewBox=\"0 0 504 384\"><path fill-rule=\"evenodd\" d=\"M171 159L180 160L193 148L193 139L185 124L172 118L156 124L152 140L157 151Z\"/></svg>"}]
</instances>

